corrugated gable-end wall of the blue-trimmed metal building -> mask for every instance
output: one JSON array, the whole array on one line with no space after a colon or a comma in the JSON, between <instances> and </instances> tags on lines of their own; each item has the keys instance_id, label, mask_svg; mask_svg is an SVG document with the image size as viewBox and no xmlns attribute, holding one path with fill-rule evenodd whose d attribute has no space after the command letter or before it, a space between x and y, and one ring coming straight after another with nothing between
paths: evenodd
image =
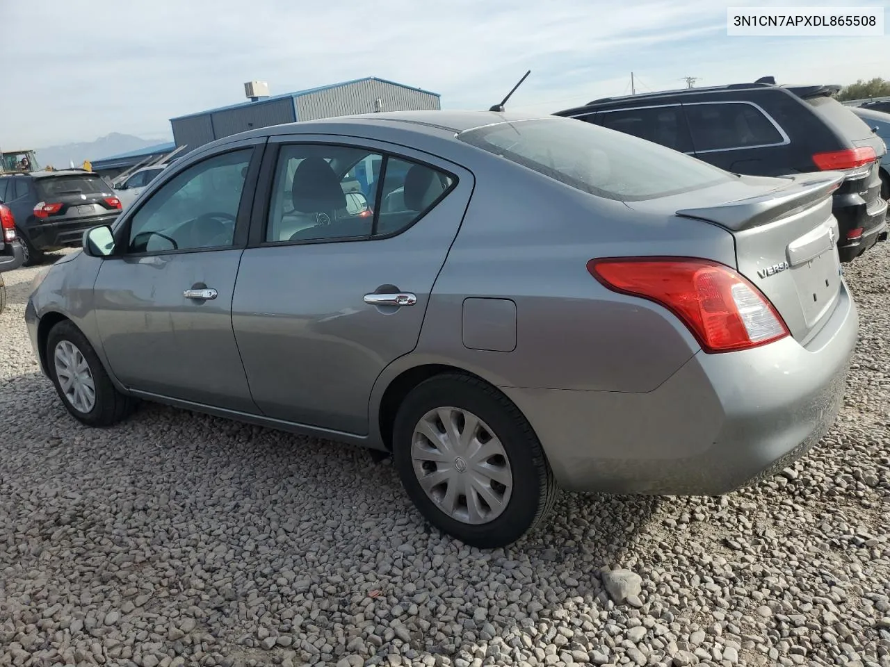
<instances>
[{"instance_id":1,"label":"corrugated gable-end wall of the blue-trimmed metal building","mask_svg":"<svg viewBox=\"0 0 890 667\"><path fill-rule=\"evenodd\" d=\"M367 114L376 111L374 100L377 99L381 100L381 111L440 108L439 98L436 95L404 88L401 85L369 80L297 97L296 118L315 120L332 116Z\"/></svg>"}]
</instances>

